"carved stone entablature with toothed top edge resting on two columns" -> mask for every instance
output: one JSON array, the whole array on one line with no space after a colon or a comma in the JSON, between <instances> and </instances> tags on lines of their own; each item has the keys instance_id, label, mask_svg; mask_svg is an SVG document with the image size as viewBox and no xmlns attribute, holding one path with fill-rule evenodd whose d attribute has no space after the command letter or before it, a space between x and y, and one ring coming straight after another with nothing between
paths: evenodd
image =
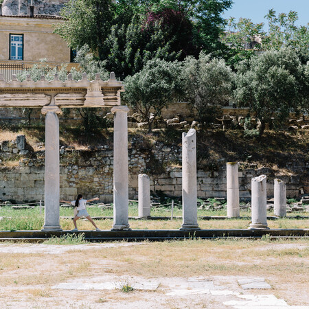
<instances>
[{"instance_id":1,"label":"carved stone entablature with toothed top edge resting on two columns","mask_svg":"<svg viewBox=\"0 0 309 309\"><path fill-rule=\"evenodd\" d=\"M82 80L77 82L68 74L67 80L62 82L56 74L51 82L41 80L34 82L30 76L23 82L13 76L13 80L6 82L0 73L0 107L105 107L120 105L120 92L124 91L122 82L111 78L107 81L100 79L88 80L87 74L82 74Z\"/></svg>"}]
</instances>

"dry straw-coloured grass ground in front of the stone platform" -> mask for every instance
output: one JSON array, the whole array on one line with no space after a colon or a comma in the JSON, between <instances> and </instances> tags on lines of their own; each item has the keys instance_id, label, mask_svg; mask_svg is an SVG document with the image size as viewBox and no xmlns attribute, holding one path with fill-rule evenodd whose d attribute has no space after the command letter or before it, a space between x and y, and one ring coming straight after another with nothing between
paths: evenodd
<instances>
[{"instance_id":1,"label":"dry straw-coloured grass ground in front of the stone platform","mask_svg":"<svg viewBox=\"0 0 309 309\"><path fill-rule=\"evenodd\" d=\"M160 278L203 276L265 277L272 290L249 293L275 294L289 304L309 304L306 273L309 269L308 240L267 242L262 240L184 240L174 242L145 242L140 246L74 250L61 255L0 253L1 301L14 295L15 307L36 303L38 308L96 308L100 303L126 306L126 302L145 301L155 297L161 308L185 308L192 299L181 298L181 304L165 297L163 291L122 293L108 291L52 290L54 284L74 279L89 279L104 274L117 277ZM31 262L29 262L31 261ZM133 279L134 280L134 279ZM220 277L222 285L225 277ZM3 304L1 303L0 304ZM70 302L71 301L71 302ZM78 302L80 301L80 302ZM194 308L203 304L194 299ZM214 301L214 299L212 300ZM168 306L161 304L167 304ZM89 307L82 307L85 304ZM204 303L205 304L205 303ZM214 308L222 304L214 301ZM71 306L71 305L70 305ZM138 306L138 305L137 305ZM32 308L32 307L31 307ZM117 307L120 308L120 307ZM211 308L211 307L207 307Z\"/></svg>"}]
</instances>

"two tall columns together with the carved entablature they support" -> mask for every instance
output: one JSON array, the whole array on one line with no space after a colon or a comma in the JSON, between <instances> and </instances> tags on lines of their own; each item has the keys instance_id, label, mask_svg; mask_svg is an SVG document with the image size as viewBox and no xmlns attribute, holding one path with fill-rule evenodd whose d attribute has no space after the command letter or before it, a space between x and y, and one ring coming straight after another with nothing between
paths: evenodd
<instances>
[{"instance_id":1,"label":"two tall columns together with the carved entablature they support","mask_svg":"<svg viewBox=\"0 0 309 309\"><path fill-rule=\"evenodd\" d=\"M59 118L60 107L111 107L114 113L114 225L113 229L130 229L128 225L128 107L120 106L120 92L124 91L121 82L115 80L111 72L110 79L103 81L100 73L95 80L89 81L87 74L82 73L82 80L73 80L71 73L62 82L55 74L54 80L47 81L45 76L34 82L30 75L25 81L12 76L5 82L0 73L0 107L43 107L45 115L45 224L43 231L58 231L60 227L60 161L59 161ZM40 97L32 102L32 95ZM65 98L63 97L63 93ZM78 95L76 95L78 93ZM43 94L43 95L42 95ZM70 94L74 99L71 102ZM57 100L60 98L60 100ZM64 100L61 100L61 98ZM120 168L119 168L120 167ZM27 187L27 186L25 186Z\"/></svg>"}]
</instances>

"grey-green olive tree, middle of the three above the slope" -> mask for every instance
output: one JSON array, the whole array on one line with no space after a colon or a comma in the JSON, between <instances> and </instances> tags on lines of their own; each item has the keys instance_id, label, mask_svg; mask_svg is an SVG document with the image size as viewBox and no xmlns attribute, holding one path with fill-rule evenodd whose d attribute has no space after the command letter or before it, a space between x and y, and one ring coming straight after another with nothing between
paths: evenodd
<instances>
[{"instance_id":1,"label":"grey-green olive tree, middle of the three above the slope","mask_svg":"<svg viewBox=\"0 0 309 309\"><path fill-rule=\"evenodd\" d=\"M204 52L198 59L188 57L183 72L188 102L202 121L211 122L231 98L234 73L224 60L211 59Z\"/></svg>"}]
</instances>

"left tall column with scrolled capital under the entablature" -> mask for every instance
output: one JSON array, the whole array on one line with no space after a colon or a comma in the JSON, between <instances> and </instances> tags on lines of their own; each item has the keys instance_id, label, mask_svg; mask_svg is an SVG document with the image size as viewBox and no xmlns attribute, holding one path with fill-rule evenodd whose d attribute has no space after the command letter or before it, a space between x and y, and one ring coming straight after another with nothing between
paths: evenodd
<instances>
[{"instance_id":1,"label":"left tall column with scrolled capital under the entablature","mask_svg":"<svg viewBox=\"0 0 309 309\"><path fill-rule=\"evenodd\" d=\"M59 119L60 108L55 105L42 108L45 115L45 222L42 231L61 231L59 220L60 166Z\"/></svg>"}]
</instances>

